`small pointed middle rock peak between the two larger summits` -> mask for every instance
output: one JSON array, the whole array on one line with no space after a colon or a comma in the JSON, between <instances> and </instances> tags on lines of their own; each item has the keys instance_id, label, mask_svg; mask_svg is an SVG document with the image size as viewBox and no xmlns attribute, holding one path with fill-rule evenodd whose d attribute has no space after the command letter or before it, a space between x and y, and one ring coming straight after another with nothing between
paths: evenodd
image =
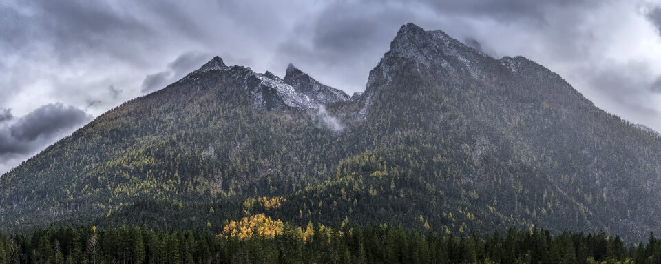
<instances>
[{"instance_id":1,"label":"small pointed middle rock peak between the two larger summits","mask_svg":"<svg viewBox=\"0 0 661 264\"><path fill-rule=\"evenodd\" d=\"M284 81L288 85L291 85L297 92L306 94L313 101L322 105L347 101L350 99L348 95L342 92L342 90L337 90L328 85L319 83L319 81L313 79L292 64L287 66L287 73L284 76Z\"/></svg>"}]
</instances>

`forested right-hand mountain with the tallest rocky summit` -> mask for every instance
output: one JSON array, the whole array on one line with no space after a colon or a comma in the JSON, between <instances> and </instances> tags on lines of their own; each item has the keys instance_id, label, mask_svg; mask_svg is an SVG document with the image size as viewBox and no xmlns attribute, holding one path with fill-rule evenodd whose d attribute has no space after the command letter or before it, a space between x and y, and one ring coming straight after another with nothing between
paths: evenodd
<instances>
[{"instance_id":1,"label":"forested right-hand mountain with the tallest rocky summit","mask_svg":"<svg viewBox=\"0 0 661 264\"><path fill-rule=\"evenodd\" d=\"M361 114L372 144L428 145L438 156L419 161L431 165L420 173L440 172L430 181L461 190L467 207L557 230L658 228L660 141L541 65L496 60L409 24L369 80ZM407 132L408 142L393 136ZM477 201L464 198L471 191Z\"/></svg>"}]
</instances>

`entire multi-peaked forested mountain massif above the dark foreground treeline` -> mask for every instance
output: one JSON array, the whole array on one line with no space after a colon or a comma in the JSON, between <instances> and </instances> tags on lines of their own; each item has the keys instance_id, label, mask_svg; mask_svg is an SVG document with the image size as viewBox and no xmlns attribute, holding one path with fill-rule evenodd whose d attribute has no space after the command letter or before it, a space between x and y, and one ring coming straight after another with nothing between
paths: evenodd
<instances>
[{"instance_id":1,"label":"entire multi-peaked forested mountain massif above the dark foreground treeline","mask_svg":"<svg viewBox=\"0 0 661 264\"><path fill-rule=\"evenodd\" d=\"M661 139L523 57L494 59L402 26L348 97L219 57L0 177L0 226L209 228L264 213L296 225L443 232L661 226Z\"/></svg>"}]
</instances>

